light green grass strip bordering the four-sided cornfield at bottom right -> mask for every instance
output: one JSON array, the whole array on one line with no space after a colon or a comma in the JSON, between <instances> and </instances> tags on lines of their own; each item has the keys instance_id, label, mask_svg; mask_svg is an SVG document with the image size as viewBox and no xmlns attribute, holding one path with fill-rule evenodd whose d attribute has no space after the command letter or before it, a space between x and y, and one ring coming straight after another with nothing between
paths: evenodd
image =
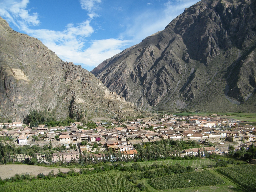
<instances>
[{"instance_id":1,"label":"light green grass strip bordering the four-sided cornfield at bottom right","mask_svg":"<svg viewBox=\"0 0 256 192\"><path fill-rule=\"evenodd\" d=\"M204 187L191 187L191 188L183 188L183 189L171 189L171 190L161 190L162 192L243 192L244 190L233 183L232 181L228 180L226 177L216 173L213 170L210 172L216 176L219 176L221 179L225 181L225 184L222 185L215 185L215 186L204 186ZM142 182L146 185L149 192L157 192L158 190L154 189L151 185L148 184L149 179L142 179L138 182Z\"/></svg>"}]
</instances>

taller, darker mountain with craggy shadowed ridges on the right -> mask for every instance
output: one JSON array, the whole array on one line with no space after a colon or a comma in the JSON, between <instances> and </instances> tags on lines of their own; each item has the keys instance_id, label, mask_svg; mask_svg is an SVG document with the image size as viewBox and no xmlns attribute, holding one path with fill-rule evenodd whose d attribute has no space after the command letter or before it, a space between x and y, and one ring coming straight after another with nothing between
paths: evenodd
<instances>
[{"instance_id":1,"label":"taller, darker mountain with craggy shadowed ridges on the right","mask_svg":"<svg viewBox=\"0 0 256 192\"><path fill-rule=\"evenodd\" d=\"M256 2L202 0L91 72L140 109L255 112Z\"/></svg>"}]
</instances>

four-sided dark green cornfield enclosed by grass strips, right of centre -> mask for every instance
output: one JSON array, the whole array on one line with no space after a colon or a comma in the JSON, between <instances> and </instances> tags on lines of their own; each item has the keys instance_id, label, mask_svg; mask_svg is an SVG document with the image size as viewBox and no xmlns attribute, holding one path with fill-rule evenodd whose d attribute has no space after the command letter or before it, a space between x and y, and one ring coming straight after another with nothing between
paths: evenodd
<instances>
[{"instance_id":1,"label":"four-sided dark green cornfield enclosed by grass strips, right of centre","mask_svg":"<svg viewBox=\"0 0 256 192\"><path fill-rule=\"evenodd\" d=\"M168 190L208 185L219 185L225 182L209 171L180 173L150 179L150 183L157 190Z\"/></svg>"}]
</instances>

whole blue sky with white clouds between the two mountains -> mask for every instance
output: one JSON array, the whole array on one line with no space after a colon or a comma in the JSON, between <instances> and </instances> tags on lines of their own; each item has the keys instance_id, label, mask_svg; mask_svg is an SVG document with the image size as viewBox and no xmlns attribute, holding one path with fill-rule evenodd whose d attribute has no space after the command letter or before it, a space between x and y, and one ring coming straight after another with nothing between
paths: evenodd
<instances>
[{"instance_id":1,"label":"whole blue sky with white clouds between the two mountains","mask_svg":"<svg viewBox=\"0 0 256 192\"><path fill-rule=\"evenodd\" d=\"M91 71L163 30L198 0L0 0L14 30L41 40L62 60Z\"/></svg>"}]
</instances>

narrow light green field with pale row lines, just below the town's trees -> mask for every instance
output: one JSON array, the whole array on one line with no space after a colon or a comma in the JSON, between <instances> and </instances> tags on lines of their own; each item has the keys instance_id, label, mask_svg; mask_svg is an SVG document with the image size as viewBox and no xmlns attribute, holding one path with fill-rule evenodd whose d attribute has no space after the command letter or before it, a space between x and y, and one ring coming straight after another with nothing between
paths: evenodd
<instances>
[{"instance_id":1,"label":"narrow light green field with pale row lines, just below the town's trees","mask_svg":"<svg viewBox=\"0 0 256 192\"><path fill-rule=\"evenodd\" d=\"M153 163L156 164L165 164L165 165L175 165L180 163L182 166L187 167L188 165L193 168L201 168L203 165L215 165L216 162L211 159L197 159L197 160L161 160L161 161L147 161L147 162L137 162L141 167L151 166ZM131 166L133 163L127 163L126 165Z\"/></svg>"}]
</instances>

